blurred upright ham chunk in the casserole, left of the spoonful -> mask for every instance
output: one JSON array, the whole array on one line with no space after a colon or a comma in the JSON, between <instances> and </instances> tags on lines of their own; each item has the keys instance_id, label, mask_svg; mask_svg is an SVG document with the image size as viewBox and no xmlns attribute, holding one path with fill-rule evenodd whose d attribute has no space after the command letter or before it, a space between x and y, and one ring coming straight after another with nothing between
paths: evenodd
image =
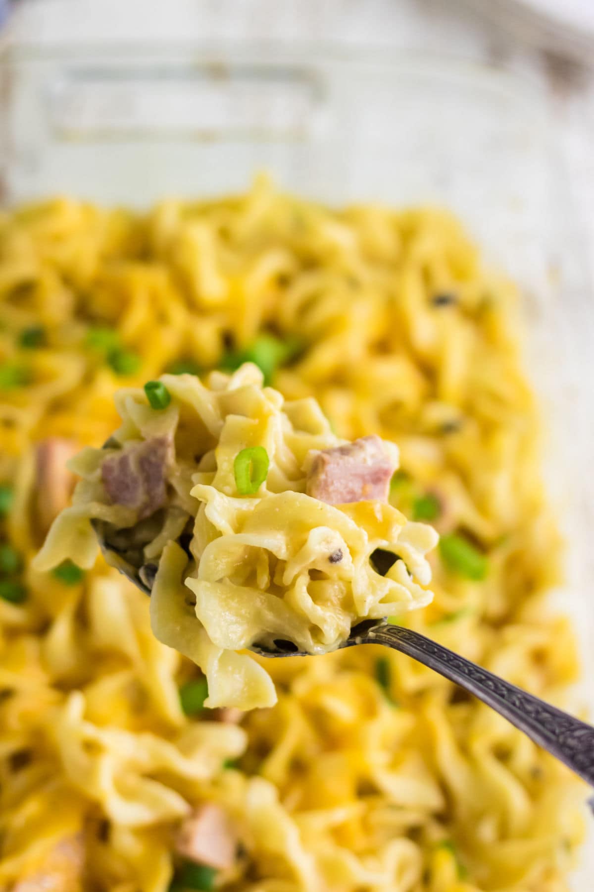
<instances>
[{"instance_id":1,"label":"blurred upright ham chunk in the casserole, left of the spoonful","mask_svg":"<svg viewBox=\"0 0 594 892\"><path fill-rule=\"evenodd\" d=\"M47 533L60 512L67 508L76 477L66 462L77 451L72 440L47 437L36 447L35 523L39 533Z\"/></svg>"}]
</instances>

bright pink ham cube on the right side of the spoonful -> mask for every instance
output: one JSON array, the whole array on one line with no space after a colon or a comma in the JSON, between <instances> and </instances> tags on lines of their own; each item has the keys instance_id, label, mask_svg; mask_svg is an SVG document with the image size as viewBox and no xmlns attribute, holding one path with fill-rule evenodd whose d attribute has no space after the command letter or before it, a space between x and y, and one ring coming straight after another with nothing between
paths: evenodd
<instances>
[{"instance_id":1,"label":"bright pink ham cube on the right side of the spoonful","mask_svg":"<svg viewBox=\"0 0 594 892\"><path fill-rule=\"evenodd\" d=\"M398 467L393 443L375 434L344 446L310 453L305 491L329 505L355 501L387 501L390 480Z\"/></svg>"}]
</instances>

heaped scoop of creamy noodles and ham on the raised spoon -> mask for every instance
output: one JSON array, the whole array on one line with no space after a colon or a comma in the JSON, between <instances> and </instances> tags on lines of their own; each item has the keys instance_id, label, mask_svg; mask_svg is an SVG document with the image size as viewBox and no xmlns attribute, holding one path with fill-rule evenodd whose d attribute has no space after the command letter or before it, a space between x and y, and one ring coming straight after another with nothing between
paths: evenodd
<instances>
[{"instance_id":1,"label":"heaped scoop of creamy noodles and ham on the raised spoon","mask_svg":"<svg viewBox=\"0 0 594 892\"><path fill-rule=\"evenodd\" d=\"M164 375L116 403L107 448L70 462L82 480L37 568L92 566L93 520L110 562L151 589L157 637L206 673L207 706L275 702L237 651L326 653L362 620L432 599L437 534L387 502L394 443L339 440L313 399L284 401L250 363L207 384Z\"/></svg>"}]
</instances>

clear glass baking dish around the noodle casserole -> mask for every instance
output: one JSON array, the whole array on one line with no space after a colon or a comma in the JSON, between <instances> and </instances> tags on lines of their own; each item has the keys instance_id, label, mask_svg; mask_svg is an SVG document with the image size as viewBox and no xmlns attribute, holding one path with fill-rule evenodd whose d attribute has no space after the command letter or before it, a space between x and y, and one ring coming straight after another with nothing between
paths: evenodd
<instances>
[{"instance_id":1,"label":"clear glass baking dish around the noodle casserole","mask_svg":"<svg viewBox=\"0 0 594 892\"><path fill-rule=\"evenodd\" d=\"M574 616L583 678L594 676L594 317L536 88L418 56L211 43L16 46L4 51L0 90L5 204L70 193L143 207L167 194L244 190L266 170L325 202L455 211L525 294L547 481L568 541L567 582L553 597ZM591 682L575 706L586 699L594 711ZM590 834L574 888L587 892L593 877Z\"/></svg>"}]
</instances>

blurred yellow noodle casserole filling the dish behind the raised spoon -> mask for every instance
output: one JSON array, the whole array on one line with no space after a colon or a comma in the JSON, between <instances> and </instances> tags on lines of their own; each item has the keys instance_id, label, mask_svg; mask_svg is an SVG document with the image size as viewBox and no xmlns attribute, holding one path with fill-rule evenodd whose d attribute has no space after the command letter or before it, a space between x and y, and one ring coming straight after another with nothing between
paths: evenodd
<instances>
[{"instance_id":1,"label":"blurred yellow noodle casserole filling the dish behind the raised spoon","mask_svg":"<svg viewBox=\"0 0 594 892\"><path fill-rule=\"evenodd\" d=\"M339 437L398 444L391 503L441 534L435 598L399 621L566 704L516 305L447 213L329 210L265 178L146 214L0 214L0 889L568 888L582 785L426 667L374 647L262 660L278 703L221 721L124 576L31 565L49 438L97 447L118 388L252 361ZM240 845L192 872L176 833L204 803Z\"/></svg>"}]
</instances>

